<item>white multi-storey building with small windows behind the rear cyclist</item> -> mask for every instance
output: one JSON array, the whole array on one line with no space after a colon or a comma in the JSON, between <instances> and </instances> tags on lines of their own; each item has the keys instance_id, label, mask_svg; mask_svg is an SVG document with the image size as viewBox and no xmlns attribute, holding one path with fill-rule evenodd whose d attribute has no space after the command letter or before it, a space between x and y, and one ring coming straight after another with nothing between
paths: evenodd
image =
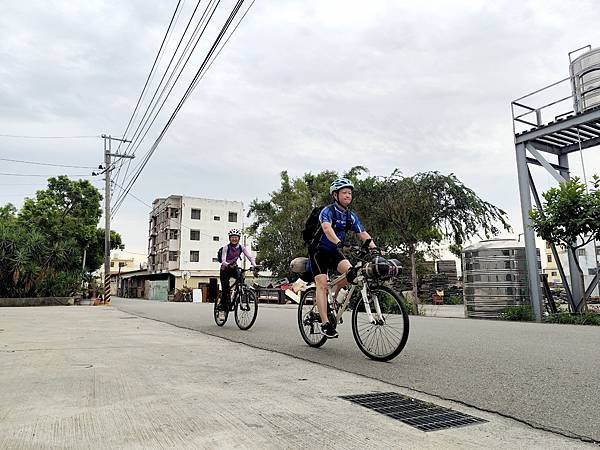
<instances>
[{"instance_id":1,"label":"white multi-storey building with small windows behind the rear cyclist","mask_svg":"<svg viewBox=\"0 0 600 450\"><path fill-rule=\"evenodd\" d=\"M228 200L182 195L154 200L148 231L148 273L171 275L169 292L185 285L199 287L218 278L217 251L229 242L231 228L243 228L243 212L242 202ZM246 246L255 256L249 242Z\"/></svg>"}]
</instances>

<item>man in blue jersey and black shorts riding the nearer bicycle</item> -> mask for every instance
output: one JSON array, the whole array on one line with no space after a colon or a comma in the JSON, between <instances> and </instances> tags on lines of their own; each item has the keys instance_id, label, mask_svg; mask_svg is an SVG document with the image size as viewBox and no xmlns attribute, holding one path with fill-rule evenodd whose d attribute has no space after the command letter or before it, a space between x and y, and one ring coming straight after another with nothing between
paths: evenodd
<instances>
[{"instance_id":1,"label":"man in blue jersey and black shorts riding the nearer bicycle","mask_svg":"<svg viewBox=\"0 0 600 450\"><path fill-rule=\"evenodd\" d=\"M341 252L348 231L355 232L374 253L379 253L373 239L354 211L348 208L352 202L354 185L347 178L338 178L331 183L329 194L333 204L324 207L319 215L322 233L308 247L310 264L315 276L317 307L321 316L321 332L328 338L338 337L335 327L327 318L327 271L337 270L346 274L346 279L338 283L337 292L356 277L356 272Z\"/></svg>"}]
</instances>

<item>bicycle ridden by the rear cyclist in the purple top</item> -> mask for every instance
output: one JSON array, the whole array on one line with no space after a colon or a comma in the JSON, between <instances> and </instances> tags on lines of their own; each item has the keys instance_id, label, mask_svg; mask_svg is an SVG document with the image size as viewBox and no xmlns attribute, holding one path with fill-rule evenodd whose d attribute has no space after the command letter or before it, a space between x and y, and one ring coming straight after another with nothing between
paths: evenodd
<instances>
[{"instance_id":1,"label":"bicycle ridden by the rear cyclist in the purple top","mask_svg":"<svg viewBox=\"0 0 600 450\"><path fill-rule=\"evenodd\" d=\"M258 301L256 299L256 291L246 283L245 273L252 269L238 269L238 277L231 287L231 297L229 299L229 308L225 309L225 319L219 320L219 304L215 301L213 315L215 323L222 327L227 322L229 312L233 311L235 323L240 330L249 330L258 315Z\"/></svg>"}]
</instances>

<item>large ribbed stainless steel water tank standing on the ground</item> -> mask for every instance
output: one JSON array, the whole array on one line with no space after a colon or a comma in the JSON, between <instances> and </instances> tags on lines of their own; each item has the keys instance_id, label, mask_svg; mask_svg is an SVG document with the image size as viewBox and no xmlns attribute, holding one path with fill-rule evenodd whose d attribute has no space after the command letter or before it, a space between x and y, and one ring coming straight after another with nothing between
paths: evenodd
<instances>
[{"instance_id":1,"label":"large ribbed stainless steel water tank standing on the ground","mask_svg":"<svg viewBox=\"0 0 600 450\"><path fill-rule=\"evenodd\" d=\"M537 250L538 271L541 268ZM465 316L496 319L509 306L530 305L525 244L492 239L463 250Z\"/></svg>"}]
</instances>

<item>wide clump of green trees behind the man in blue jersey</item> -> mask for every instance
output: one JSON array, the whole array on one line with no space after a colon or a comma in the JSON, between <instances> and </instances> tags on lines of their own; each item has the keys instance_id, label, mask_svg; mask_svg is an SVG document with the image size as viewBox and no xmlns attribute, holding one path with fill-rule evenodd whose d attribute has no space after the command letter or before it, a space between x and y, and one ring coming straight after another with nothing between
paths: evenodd
<instances>
[{"instance_id":1,"label":"wide clump of green trees behind the man in blue jersey","mask_svg":"<svg viewBox=\"0 0 600 450\"><path fill-rule=\"evenodd\" d=\"M504 211L481 200L452 174L403 177L395 171L389 177L374 177L365 173L367 169L356 166L344 174L355 184L353 208L378 246L409 255L415 298L417 256L423 247L431 249L446 239L460 254L462 244L479 232L498 234L496 223L510 229ZM256 220L249 230L257 239L261 263L276 276L288 274L289 261L307 253L301 239L304 223L313 207L331 202L329 184L337 176L326 171L290 180L282 172L281 188L271 193L270 201L252 202L250 214Z\"/></svg>"}]
</instances>

